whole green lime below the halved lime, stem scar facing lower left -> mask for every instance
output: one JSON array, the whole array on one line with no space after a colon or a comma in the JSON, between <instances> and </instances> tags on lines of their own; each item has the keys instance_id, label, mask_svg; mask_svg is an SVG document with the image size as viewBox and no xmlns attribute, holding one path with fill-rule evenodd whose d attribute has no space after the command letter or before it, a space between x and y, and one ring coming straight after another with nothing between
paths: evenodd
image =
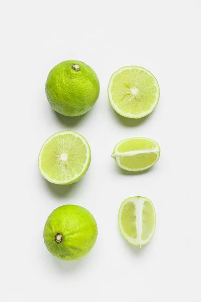
<instances>
[{"instance_id":1,"label":"whole green lime below the halved lime, stem scar facing lower left","mask_svg":"<svg viewBox=\"0 0 201 302\"><path fill-rule=\"evenodd\" d=\"M47 218L43 238L53 256L68 261L78 260L93 248L97 238L97 224L85 208L63 205Z\"/></svg>"}]
</instances>

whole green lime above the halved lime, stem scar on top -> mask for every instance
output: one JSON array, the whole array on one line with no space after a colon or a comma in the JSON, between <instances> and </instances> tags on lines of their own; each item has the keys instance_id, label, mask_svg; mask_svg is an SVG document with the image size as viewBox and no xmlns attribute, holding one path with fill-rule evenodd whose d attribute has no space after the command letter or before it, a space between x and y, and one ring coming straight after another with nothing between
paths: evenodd
<instances>
[{"instance_id":1,"label":"whole green lime above the halved lime, stem scar on top","mask_svg":"<svg viewBox=\"0 0 201 302\"><path fill-rule=\"evenodd\" d=\"M45 85L46 96L52 108L66 116L86 113L95 104L99 91L95 71L76 60L54 66Z\"/></svg>"}]
</instances>

